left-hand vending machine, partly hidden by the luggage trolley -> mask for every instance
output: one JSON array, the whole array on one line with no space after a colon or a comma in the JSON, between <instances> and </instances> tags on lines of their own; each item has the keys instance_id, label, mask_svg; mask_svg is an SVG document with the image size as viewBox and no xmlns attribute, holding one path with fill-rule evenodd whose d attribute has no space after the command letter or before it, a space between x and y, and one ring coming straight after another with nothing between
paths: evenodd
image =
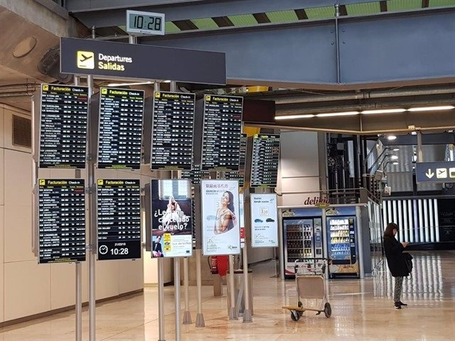
<instances>
[{"instance_id":1,"label":"left-hand vending machine, partly hidden by the luggage trolley","mask_svg":"<svg viewBox=\"0 0 455 341\"><path fill-rule=\"evenodd\" d=\"M297 259L323 258L321 217L283 218L283 229L285 277L295 276Z\"/></svg>"}]
</instances>

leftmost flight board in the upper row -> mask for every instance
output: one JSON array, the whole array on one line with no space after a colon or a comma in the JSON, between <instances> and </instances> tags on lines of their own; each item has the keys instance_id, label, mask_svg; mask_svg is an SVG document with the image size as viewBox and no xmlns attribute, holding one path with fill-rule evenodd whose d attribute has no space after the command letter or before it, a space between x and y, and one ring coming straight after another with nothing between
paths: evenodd
<instances>
[{"instance_id":1,"label":"leftmost flight board in the upper row","mask_svg":"<svg viewBox=\"0 0 455 341\"><path fill-rule=\"evenodd\" d=\"M41 85L40 168L85 168L88 87Z\"/></svg>"}]
</instances>

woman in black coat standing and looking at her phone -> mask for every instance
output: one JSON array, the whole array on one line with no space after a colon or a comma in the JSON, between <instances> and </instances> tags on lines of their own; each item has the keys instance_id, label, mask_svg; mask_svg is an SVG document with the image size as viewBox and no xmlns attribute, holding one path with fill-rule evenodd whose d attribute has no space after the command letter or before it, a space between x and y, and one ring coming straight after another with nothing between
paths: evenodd
<instances>
[{"instance_id":1,"label":"woman in black coat standing and looking at her phone","mask_svg":"<svg viewBox=\"0 0 455 341\"><path fill-rule=\"evenodd\" d=\"M407 247L407 243L400 243L395 239L395 234L397 234L397 232L397 224L393 222L387 224L384 232L384 251L385 258L387 258L387 266L389 266L392 276L395 277L395 291L393 293L395 309L401 309L402 305L407 305L400 301L403 288L403 277L410 273L407 270L405 256L403 256L403 250Z\"/></svg>"}]
</instances>

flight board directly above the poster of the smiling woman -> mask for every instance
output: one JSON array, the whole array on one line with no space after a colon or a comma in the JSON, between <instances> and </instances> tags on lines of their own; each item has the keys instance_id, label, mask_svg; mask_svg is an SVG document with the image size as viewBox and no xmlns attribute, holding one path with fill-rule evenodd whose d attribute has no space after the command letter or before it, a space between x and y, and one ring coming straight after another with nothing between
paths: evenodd
<instances>
[{"instance_id":1,"label":"flight board directly above the poster of the smiling woman","mask_svg":"<svg viewBox=\"0 0 455 341\"><path fill-rule=\"evenodd\" d=\"M243 97L204 96L203 171L238 171Z\"/></svg>"}]
</instances>

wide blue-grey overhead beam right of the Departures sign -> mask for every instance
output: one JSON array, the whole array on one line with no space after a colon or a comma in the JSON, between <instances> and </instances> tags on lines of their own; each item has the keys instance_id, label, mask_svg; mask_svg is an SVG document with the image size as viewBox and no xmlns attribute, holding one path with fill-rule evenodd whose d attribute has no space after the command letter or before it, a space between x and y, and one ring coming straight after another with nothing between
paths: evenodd
<instances>
[{"instance_id":1,"label":"wide blue-grey overhead beam right of the Departures sign","mask_svg":"<svg viewBox=\"0 0 455 341\"><path fill-rule=\"evenodd\" d=\"M275 2L275 1L271 1ZM367 89L455 82L455 8L144 37L140 43L226 53L228 83Z\"/></svg>"}]
</instances>

